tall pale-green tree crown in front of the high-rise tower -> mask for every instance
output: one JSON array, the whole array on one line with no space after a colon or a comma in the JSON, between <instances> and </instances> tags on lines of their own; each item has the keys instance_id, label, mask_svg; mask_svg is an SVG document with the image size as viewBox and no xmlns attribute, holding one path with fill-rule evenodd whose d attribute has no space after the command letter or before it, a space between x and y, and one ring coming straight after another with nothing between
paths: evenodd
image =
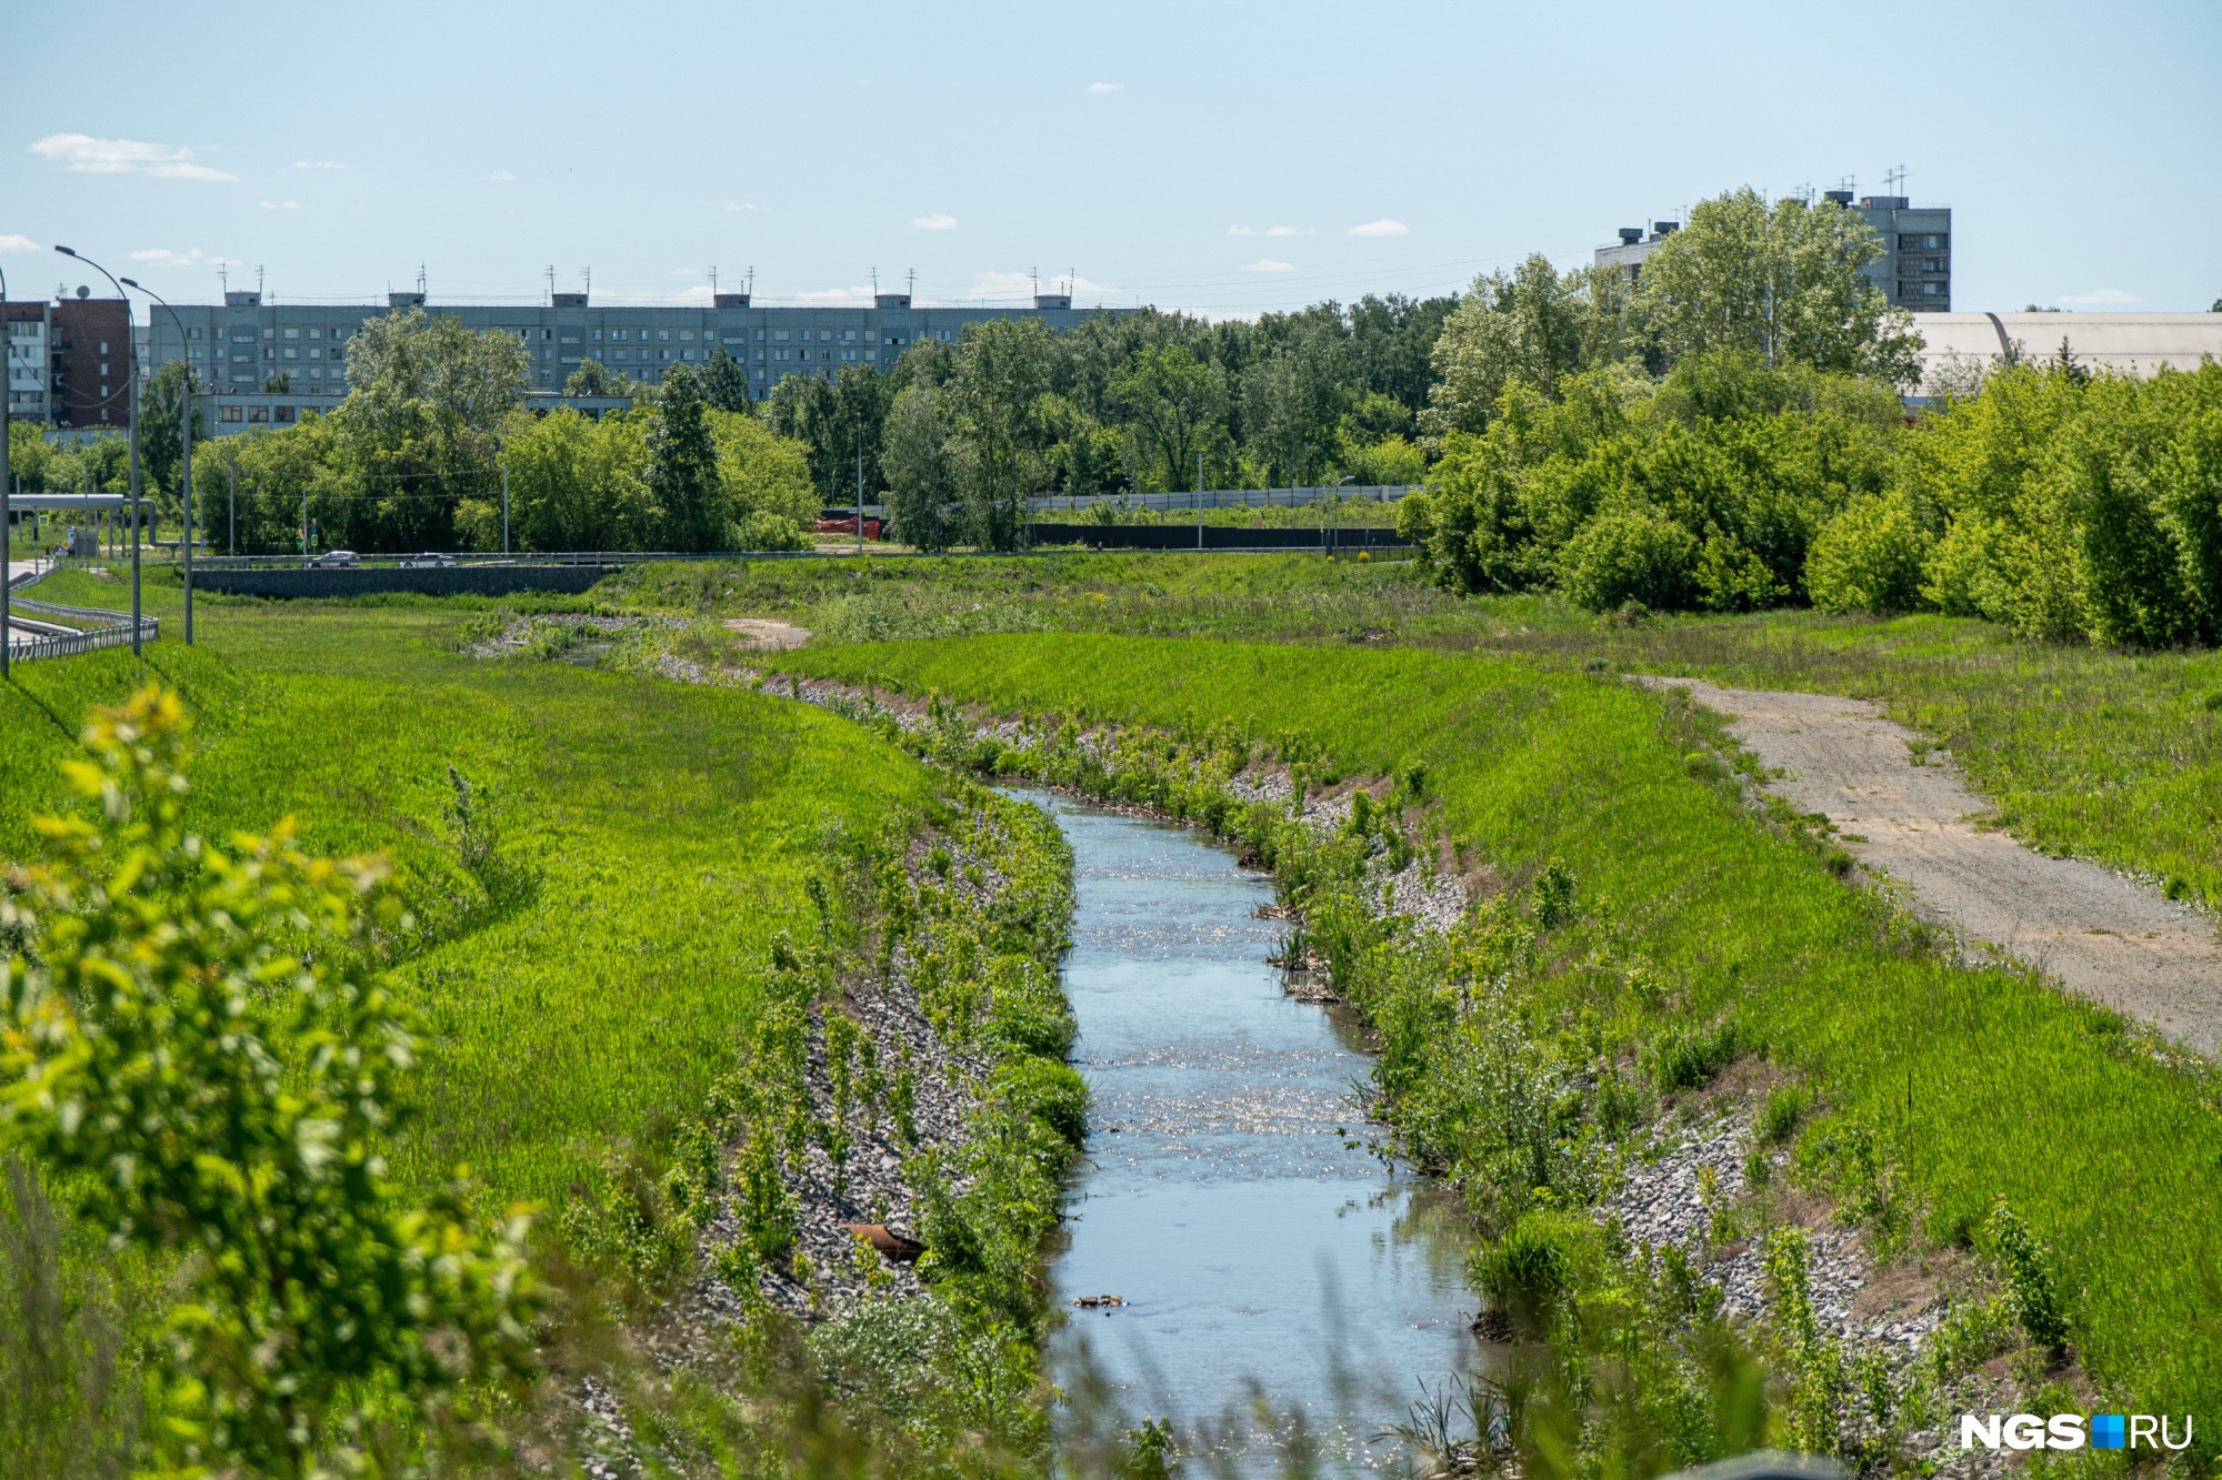
<instances>
[{"instance_id":1,"label":"tall pale-green tree crown in front of the high-rise tower","mask_svg":"<svg viewBox=\"0 0 2222 1480\"><path fill-rule=\"evenodd\" d=\"M1640 302L1671 358L1735 349L1909 387L1922 340L1864 269L1882 238L1833 200L1766 204L1753 189L1691 209L1644 260Z\"/></svg>"}]
</instances>

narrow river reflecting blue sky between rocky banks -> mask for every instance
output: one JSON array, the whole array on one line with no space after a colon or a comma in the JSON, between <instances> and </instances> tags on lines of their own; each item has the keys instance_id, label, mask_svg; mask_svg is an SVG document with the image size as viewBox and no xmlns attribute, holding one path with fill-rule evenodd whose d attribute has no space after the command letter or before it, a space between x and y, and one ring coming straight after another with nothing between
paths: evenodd
<instances>
[{"instance_id":1,"label":"narrow river reflecting blue sky between rocky banks","mask_svg":"<svg viewBox=\"0 0 2222 1480\"><path fill-rule=\"evenodd\" d=\"M1371 1467L1418 1387L1475 1358L1455 1202L1369 1149L1360 1029L1282 993L1267 962L1264 873L1195 833L1047 807L1073 844L1078 918L1064 987L1095 1096L1073 1187L1053 1364L1113 1384L1129 1416L1175 1427L1302 1413L1335 1469ZM1271 1469L1275 1442L1240 1442Z\"/></svg>"}]
</instances>

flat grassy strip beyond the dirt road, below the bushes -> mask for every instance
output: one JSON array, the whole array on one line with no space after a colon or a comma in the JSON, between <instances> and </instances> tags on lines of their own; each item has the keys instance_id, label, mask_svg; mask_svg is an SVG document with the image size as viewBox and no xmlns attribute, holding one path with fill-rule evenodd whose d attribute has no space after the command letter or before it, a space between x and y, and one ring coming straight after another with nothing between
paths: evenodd
<instances>
[{"instance_id":1,"label":"flat grassy strip beyond the dirt road, below the bushes","mask_svg":"<svg viewBox=\"0 0 2222 1480\"><path fill-rule=\"evenodd\" d=\"M782 616L831 640L1118 631L1520 653L1880 700L1946 744L2022 842L2222 909L2222 656L2029 642L1978 620L1769 611L1598 622L1549 596L1460 600L1409 564L1287 556L658 564L635 609Z\"/></svg>"}]
</instances>

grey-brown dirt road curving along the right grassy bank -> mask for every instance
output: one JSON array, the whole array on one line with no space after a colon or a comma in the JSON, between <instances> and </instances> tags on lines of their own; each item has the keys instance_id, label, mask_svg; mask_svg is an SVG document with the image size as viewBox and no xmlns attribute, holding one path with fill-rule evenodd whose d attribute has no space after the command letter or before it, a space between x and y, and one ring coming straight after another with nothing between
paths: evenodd
<instances>
[{"instance_id":1,"label":"grey-brown dirt road curving along the right grassy bank","mask_svg":"<svg viewBox=\"0 0 2222 1480\"><path fill-rule=\"evenodd\" d=\"M2151 1022L2200 1053L2222 1044L2222 942L2198 911L2098 864L2033 853L1975 822L1991 807L1949 756L1826 693L1755 693L1682 678L1769 771L1766 789L1826 813L1873 873L1900 880L1933 918L2060 978L2075 993ZM1926 751L1926 753L1924 753Z\"/></svg>"}]
</instances>

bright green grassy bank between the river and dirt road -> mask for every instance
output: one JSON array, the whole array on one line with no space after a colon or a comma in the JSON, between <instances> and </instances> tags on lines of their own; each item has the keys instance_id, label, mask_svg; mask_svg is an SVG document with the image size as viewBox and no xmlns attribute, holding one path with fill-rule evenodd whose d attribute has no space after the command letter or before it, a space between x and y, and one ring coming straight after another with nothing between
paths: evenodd
<instances>
[{"instance_id":1,"label":"bright green grassy bank between the river and dirt road","mask_svg":"<svg viewBox=\"0 0 2222 1480\"><path fill-rule=\"evenodd\" d=\"M1706 729L1673 700L1531 656L1084 633L851 644L778 667L1009 711L1302 736L1344 773L1424 760L1451 831L1500 876L1560 858L1580 880L1595 924L1538 989L1544 1024L1578 1042L1733 1009L1833 1113L1878 1127L1931 1238L2009 1196L2053 1240L2106 1393L2142 1411L2222 1404L2211 1069L2151 1056L2111 1013L2026 976L1909 944L1686 760ZM1664 991L1593 969L1591 949Z\"/></svg>"}]
</instances>

